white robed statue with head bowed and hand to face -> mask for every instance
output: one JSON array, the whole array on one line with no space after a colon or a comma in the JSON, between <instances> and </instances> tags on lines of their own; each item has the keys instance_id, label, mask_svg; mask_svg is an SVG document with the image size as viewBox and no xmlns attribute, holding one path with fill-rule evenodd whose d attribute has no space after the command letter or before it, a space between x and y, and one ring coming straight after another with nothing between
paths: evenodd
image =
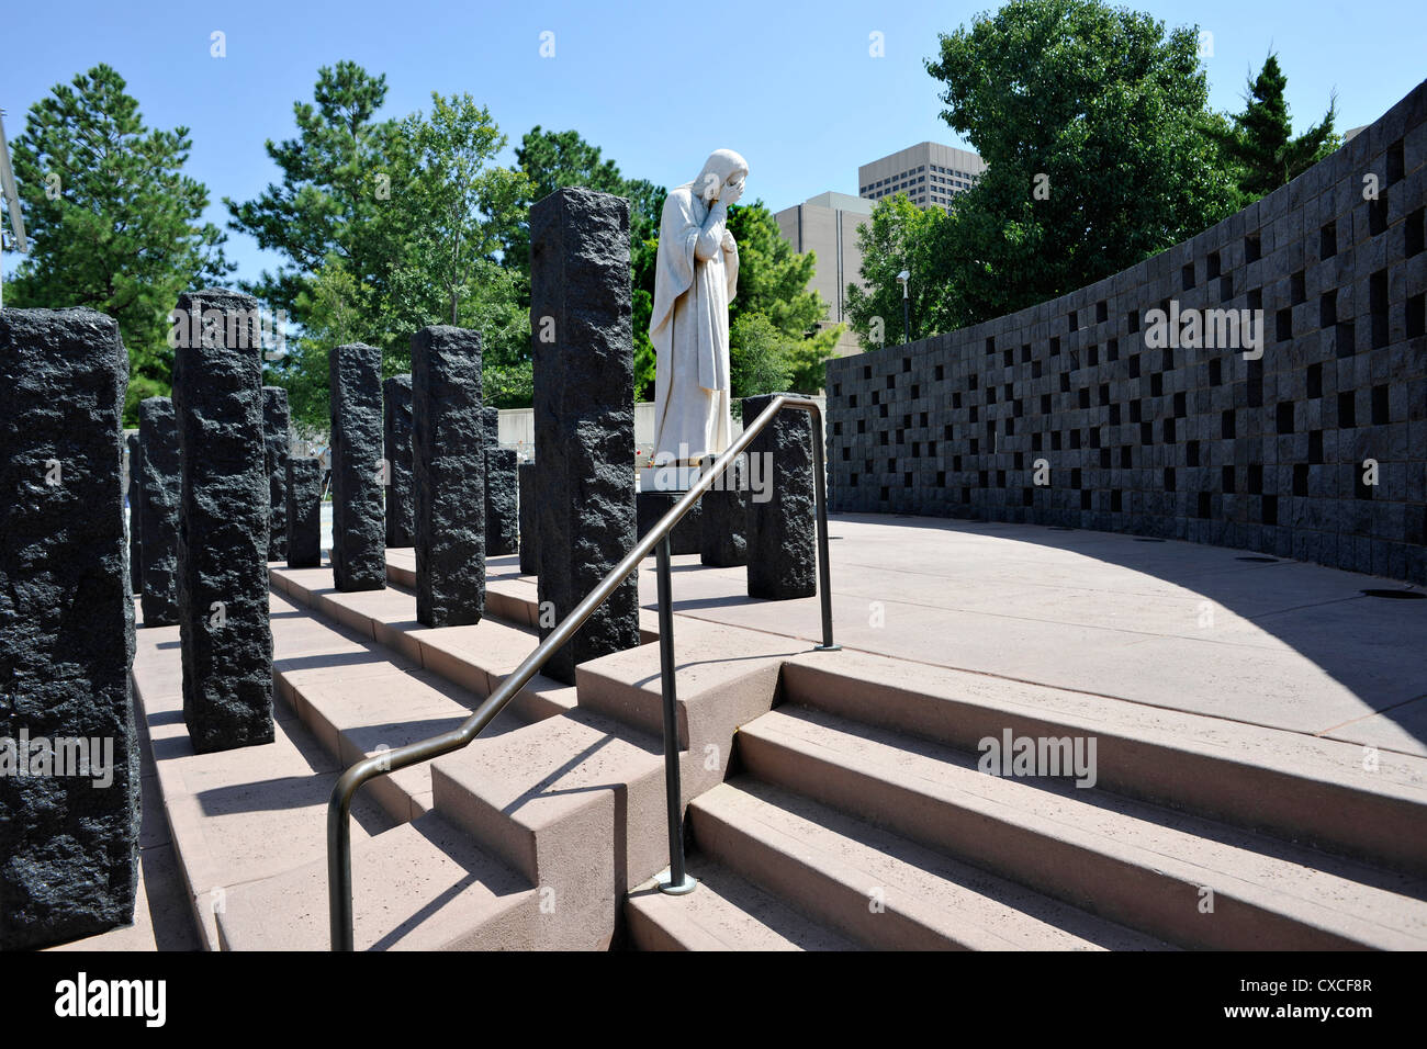
<instances>
[{"instance_id":1,"label":"white robed statue with head bowed and hand to face","mask_svg":"<svg viewBox=\"0 0 1427 1049\"><path fill-rule=\"evenodd\" d=\"M726 225L746 178L741 156L715 150L699 177L664 201L649 318L655 464L689 465L732 440L728 304L738 290L738 244Z\"/></svg>"}]
</instances>

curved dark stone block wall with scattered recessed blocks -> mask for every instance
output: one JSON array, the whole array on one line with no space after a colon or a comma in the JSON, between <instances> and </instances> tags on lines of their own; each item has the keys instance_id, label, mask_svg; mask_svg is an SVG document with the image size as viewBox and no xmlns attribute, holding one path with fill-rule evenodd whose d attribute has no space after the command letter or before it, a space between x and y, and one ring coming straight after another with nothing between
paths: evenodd
<instances>
[{"instance_id":1,"label":"curved dark stone block wall with scattered recessed blocks","mask_svg":"<svg viewBox=\"0 0 1427 1049\"><path fill-rule=\"evenodd\" d=\"M1427 83L1153 258L831 361L833 510L1124 531L1427 582L1424 121ZM1146 314L1172 304L1261 310L1261 358L1147 345Z\"/></svg>"}]
</instances>

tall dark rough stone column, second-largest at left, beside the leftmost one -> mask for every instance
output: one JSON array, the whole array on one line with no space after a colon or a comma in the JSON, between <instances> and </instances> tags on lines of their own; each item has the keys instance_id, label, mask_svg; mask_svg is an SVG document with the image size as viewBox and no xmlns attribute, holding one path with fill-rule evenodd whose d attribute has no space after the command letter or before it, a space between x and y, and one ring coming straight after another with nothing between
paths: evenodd
<instances>
[{"instance_id":1,"label":"tall dark rough stone column, second-largest at left, beside the leftmost one","mask_svg":"<svg viewBox=\"0 0 1427 1049\"><path fill-rule=\"evenodd\" d=\"M223 318L174 353L183 715L204 754L273 742L263 345L251 295L207 288L178 310Z\"/></svg>"}]
</instances>

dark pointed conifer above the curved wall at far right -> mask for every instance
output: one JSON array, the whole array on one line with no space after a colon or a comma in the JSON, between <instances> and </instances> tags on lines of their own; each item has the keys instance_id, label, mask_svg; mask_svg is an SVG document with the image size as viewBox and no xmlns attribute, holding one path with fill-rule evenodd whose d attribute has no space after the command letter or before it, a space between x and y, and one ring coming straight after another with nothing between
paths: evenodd
<instances>
[{"instance_id":1,"label":"dark pointed conifer above the curved wall at far right","mask_svg":"<svg viewBox=\"0 0 1427 1049\"><path fill-rule=\"evenodd\" d=\"M1289 78L1279 69L1279 59L1270 53L1259 76L1249 81L1244 111L1232 118L1232 126L1220 126L1210 133L1234 168L1240 207L1287 186L1343 144L1333 133L1336 98L1329 100L1329 111L1321 121L1294 137L1284 98Z\"/></svg>"}]
</instances>

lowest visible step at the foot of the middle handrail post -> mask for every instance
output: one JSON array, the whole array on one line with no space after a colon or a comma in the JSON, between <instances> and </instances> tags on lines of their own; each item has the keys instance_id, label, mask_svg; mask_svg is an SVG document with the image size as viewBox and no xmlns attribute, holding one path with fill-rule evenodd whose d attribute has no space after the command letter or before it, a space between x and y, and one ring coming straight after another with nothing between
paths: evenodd
<instances>
[{"instance_id":1,"label":"lowest visible step at the foot of the middle handrail post","mask_svg":"<svg viewBox=\"0 0 1427 1049\"><path fill-rule=\"evenodd\" d=\"M639 951L858 951L846 939L706 856L689 856L699 888L666 896L651 878L625 901Z\"/></svg>"}]
</instances>

